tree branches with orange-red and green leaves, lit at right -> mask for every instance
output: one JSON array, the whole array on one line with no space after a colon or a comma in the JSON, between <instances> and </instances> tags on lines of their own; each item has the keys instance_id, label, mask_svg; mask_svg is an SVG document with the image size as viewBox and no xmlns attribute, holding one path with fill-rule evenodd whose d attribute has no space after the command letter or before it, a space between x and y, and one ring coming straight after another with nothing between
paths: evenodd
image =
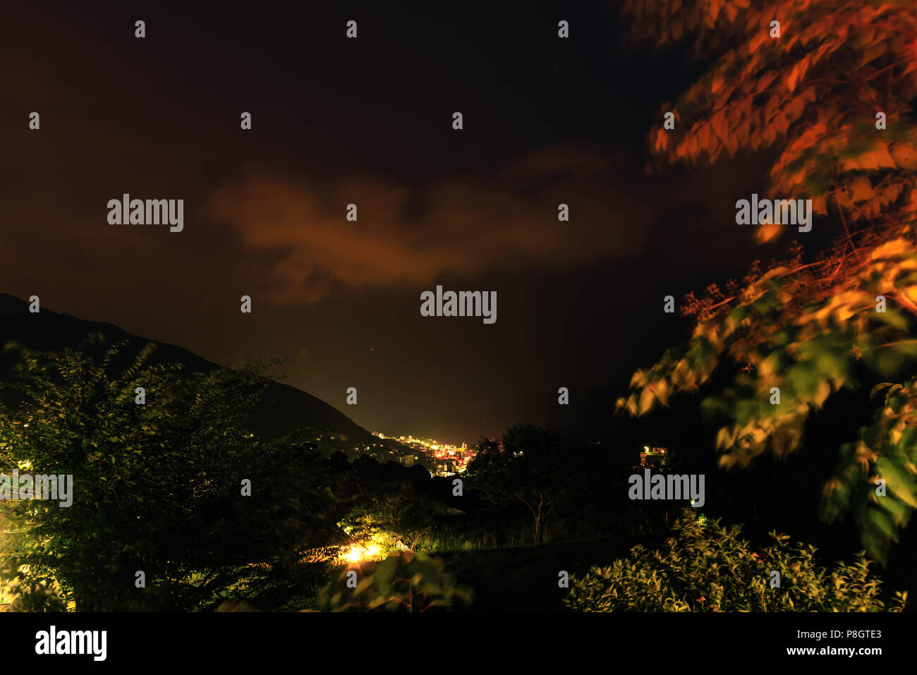
<instances>
[{"instance_id":1,"label":"tree branches with orange-red and green leaves, lit at right","mask_svg":"<svg viewBox=\"0 0 917 675\"><path fill-rule=\"evenodd\" d=\"M834 227L836 238L808 257L797 246L789 260L756 265L724 290L689 295L691 338L636 371L618 406L643 415L735 364L731 385L704 408L732 420L717 438L722 466L743 467L799 448L806 419L842 388L859 388L866 404L862 379L900 381L840 449L821 510L827 520L852 511L864 546L884 559L917 508L917 6L627 0L625 11L638 37L692 39L692 52L712 62L663 106L677 125L650 134L657 162L768 150L772 194L811 199L815 227ZM757 238L785 228L765 218Z\"/></svg>"}]
</instances>

